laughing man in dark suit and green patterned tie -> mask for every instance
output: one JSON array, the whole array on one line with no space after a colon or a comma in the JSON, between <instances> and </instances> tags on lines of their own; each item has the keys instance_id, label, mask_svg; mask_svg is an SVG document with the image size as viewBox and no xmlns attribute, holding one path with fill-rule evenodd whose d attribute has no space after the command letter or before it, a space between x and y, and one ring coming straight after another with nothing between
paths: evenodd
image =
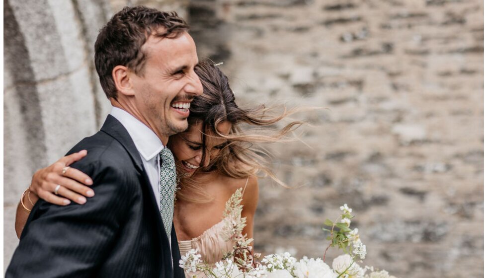
<instances>
[{"instance_id":1,"label":"laughing man in dark suit and green patterned tie","mask_svg":"<svg viewBox=\"0 0 487 278\"><path fill-rule=\"evenodd\" d=\"M164 145L186 130L190 102L203 92L187 29L175 13L138 6L100 31L95 65L113 109L69 151L87 150L70 166L92 178L96 195L83 206L37 202L6 277L184 277L172 227L175 166Z\"/></svg>"}]
</instances>

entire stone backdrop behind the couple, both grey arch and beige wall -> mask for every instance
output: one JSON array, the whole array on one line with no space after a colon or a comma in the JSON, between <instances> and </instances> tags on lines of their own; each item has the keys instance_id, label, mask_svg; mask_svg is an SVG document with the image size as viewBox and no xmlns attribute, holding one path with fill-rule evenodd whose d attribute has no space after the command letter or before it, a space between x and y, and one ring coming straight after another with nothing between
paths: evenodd
<instances>
[{"instance_id":1,"label":"entire stone backdrop behind the couple, both grey arch and beige wall","mask_svg":"<svg viewBox=\"0 0 487 278\"><path fill-rule=\"evenodd\" d=\"M4 2L4 266L40 166L108 112L97 30L128 0ZM239 103L324 107L296 118L261 180L257 251L320 257L343 203L366 264L398 277L483 277L484 4L480 0L139 0L188 18L200 59L224 62ZM327 258L333 257L333 252Z\"/></svg>"}]
</instances>

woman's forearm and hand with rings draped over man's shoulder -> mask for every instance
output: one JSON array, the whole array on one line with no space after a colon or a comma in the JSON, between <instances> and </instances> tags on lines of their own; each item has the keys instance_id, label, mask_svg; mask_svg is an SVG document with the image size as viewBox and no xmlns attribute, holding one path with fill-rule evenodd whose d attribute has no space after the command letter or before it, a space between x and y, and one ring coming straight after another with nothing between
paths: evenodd
<instances>
[{"instance_id":1,"label":"woman's forearm and hand with rings draped over man's shoulder","mask_svg":"<svg viewBox=\"0 0 487 278\"><path fill-rule=\"evenodd\" d=\"M15 232L17 233L18 238L20 238L20 235L22 234L30 210L32 210L35 203L39 200L39 197L49 203L66 206L69 205L71 201L82 205L86 203L85 197L94 196L93 190L84 186L93 184L91 178L77 169L66 168L75 161L86 156L86 153L86 150L81 150L65 156L54 162L52 165L37 170L37 172L34 173L29 188L22 194L22 200L17 206ZM60 185L60 187L58 189L58 195L56 195L54 194L54 191L58 185Z\"/></svg>"}]
</instances>

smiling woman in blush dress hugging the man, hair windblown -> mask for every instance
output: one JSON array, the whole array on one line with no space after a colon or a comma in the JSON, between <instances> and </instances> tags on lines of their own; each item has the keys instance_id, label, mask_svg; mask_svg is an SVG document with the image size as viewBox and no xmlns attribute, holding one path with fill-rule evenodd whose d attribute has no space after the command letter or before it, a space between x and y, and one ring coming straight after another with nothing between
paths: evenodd
<instances>
[{"instance_id":1,"label":"smiling woman in blush dress hugging the man, hair windblown","mask_svg":"<svg viewBox=\"0 0 487 278\"><path fill-rule=\"evenodd\" d=\"M269 117L266 115L268 109L264 107L239 108L228 78L222 71L208 63L198 64L195 71L201 79L204 93L191 103L188 130L171 136L167 144L174 154L180 178L174 228L182 254L198 248L202 259L214 264L233 247L233 242L226 242L221 235L227 200L237 189L243 188L242 216L246 217L247 223L243 234L250 238L253 236L253 216L258 199L256 173L263 172L278 181L264 166L262 151L252 149L252 144L282 140L301 122L292 122L271 135L245 134L241 124L257 127L273 125L293 111ZM82 205L86 202L85 197L94 196L95 192L85 186L92 184L87 175L74 168L62 170L64 165L84 155L86 151L63 157L34 174L32 184L22 195L17 209L17 236L20 236L28 210L38 200L37 196L61 206L71 201ZM59 195L53 194L56 187Z\"/></svg>"}]
</instances>

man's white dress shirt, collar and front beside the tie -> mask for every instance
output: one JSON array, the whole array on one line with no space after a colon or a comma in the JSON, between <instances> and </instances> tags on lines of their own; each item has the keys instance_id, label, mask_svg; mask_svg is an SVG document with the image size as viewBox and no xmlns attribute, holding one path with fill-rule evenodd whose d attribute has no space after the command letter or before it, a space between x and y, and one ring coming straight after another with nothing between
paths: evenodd
<instances>
[{"instance_id":1,"label":"man's white dress shirt, collar and front beside the tie","mask_svg":"<svg viewBox=\"0 0 487 278\"><path fill-rule=\"evenodd\" d=\"M164 148L164 145L149 127L130 115L127 111L112 107L110 115L122 123L123 127L134 141L135 147L142 158L142 163L144 164L149 181L151 182L157 205L159 209L161 209L161 191L159 185L161 164L159 163L159 153Z\"/></svg>"}]
</instances>

